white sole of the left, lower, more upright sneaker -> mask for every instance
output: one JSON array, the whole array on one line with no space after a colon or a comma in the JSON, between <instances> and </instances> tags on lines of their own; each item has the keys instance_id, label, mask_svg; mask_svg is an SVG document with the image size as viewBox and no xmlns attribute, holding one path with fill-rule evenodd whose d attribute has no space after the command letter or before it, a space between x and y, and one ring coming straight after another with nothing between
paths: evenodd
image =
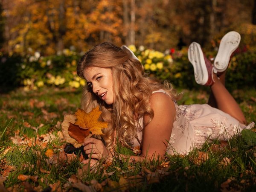
<instances>
[{"instance_id":1,"label":"white sole of the left, lower, more upright sneaker","mask_svg":"<svg viewBox=\"0 0 256 192\"><path fill-rule=\"evenodd\" d=\"M208 75L204 76L204 74L208 74L208 72L204 61L204 54L198 43L193 42L189 45L188 58L194 68L195 81L201 85L206 84L208 81Z\"/></svg>"}]
</instances>

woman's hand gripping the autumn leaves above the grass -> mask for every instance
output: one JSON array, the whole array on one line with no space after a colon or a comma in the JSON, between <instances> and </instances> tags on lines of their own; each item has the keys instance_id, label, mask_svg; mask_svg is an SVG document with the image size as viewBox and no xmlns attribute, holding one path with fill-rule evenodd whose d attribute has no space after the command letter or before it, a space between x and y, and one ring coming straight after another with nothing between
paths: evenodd
<instances>
[{"instance_id":1,"label":"woman's hand gripping the autumn leaves above the grass","mask_svg":"<svg viewBox=\"0 0 256 192\"><path fill-rule=\"evenodd\" d=\"M89 138L84 140L84 152L88 154L91 159L112 160L113 155L101 140Z\"/></svg>"}]
</instances>

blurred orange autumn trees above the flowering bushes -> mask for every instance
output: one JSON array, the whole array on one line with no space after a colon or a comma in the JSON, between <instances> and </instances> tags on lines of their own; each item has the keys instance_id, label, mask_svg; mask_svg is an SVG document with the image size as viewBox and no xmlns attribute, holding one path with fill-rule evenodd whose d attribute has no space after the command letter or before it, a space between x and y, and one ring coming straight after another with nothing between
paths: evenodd
<instances>
[{"instance_id":1,"label":"blurred orange autumn trees above the flowering bushes","mask_svg":"<svg viewBox=\"0 0 256 192\"><path fill-rule=\"evenodd\" d=\"M255 1L255 0L254 0ZM102 41L164 51L192 41L215 47L254 22L253 0L1 0L10 53L85 51ZM254 3L255 7L255 3ZM252 16L254 15L254 16ZM253 27L250 27L253 29ZM214 40L214 41L212 41ZM216 41L216 42L215 42Z\"/></svg>"}]
</instances>

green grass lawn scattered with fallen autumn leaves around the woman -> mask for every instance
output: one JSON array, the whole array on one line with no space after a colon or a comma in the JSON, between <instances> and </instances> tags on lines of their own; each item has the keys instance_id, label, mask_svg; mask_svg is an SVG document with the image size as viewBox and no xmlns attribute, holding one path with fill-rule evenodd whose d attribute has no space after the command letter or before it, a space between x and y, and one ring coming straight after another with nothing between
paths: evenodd
<instances>
[{"instance_id":1,"label":"green grass lawn scattered with fallen autumn leaves around the woman","mask_svg":"<svg viewBox=\"0 0 256 192\"><path fill-rule=\"evenodd\" d=\"M256 90L236 90L248 122L256 121ZM135 163L116 155L90 172L82 156L66 154L65 114L80 106L81 90L21 89L0 97L0 191L255 191L253 134L206 143L187 156ZM204 91L184 90L180 104L205 103ZM255 131L255 129L253 130ZM134 154L122 148L122 154Z\"/></svg>"}]
</instances>

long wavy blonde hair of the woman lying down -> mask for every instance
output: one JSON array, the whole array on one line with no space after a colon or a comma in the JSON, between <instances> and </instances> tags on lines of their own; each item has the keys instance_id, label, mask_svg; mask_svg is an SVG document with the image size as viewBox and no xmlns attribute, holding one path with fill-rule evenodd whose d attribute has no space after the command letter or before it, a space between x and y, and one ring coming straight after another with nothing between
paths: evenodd
<instances>
[{"instance_id":1,"label":"long wavy blonde hair of the woman lying down","mask_svg":"<svg viewBox=\"0 0 256 192\"><path fill-rule=\"evenodd\" d=\"M151 119L153 118L154 111L150 108L149 99L154 90L164 89L172 99L177 99L171 84L167 82L161 84L156 79L148 77L144 73L143 65L131 57L127 49L121 49L109 42L99 44L86 52L77 65L77 74L84 78L84 70L89 67L112 70L114 94L112 105L102 101L90 87L84 89L81 100L81 107L87 113L99 106L102 111L99 120L109 123L108 128L103 130L103 139L108 149L113 146L115 137L123 146L129 147L129 142L135 137L137 130L138 121L134 118L134 114L149 115Z\"/></svg>"}]
</instances>

